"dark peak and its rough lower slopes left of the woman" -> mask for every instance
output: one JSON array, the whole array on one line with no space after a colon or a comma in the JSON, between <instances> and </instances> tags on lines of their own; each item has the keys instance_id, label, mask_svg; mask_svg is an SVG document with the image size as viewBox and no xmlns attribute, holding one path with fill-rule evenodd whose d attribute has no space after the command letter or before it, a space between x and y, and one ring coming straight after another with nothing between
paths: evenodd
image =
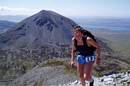
<instances>
[{"instance_id":1,"label":"dark peak and its rough lower slopes left of the woman","mask_svg":"<svg viewBox=\"0 0 130 86\"><path fill-rule=\"evenodd\" d=\"M75 25L58 13L42 10L0 34L0 80L18 78L47 59L69 57Z\"/></svg>"}]
</instances>

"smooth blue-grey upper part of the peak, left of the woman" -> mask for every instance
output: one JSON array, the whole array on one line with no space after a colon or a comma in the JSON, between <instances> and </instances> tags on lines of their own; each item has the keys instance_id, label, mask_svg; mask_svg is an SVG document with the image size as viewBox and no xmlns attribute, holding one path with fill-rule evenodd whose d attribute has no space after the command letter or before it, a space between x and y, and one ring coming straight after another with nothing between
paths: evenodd
<instances>
[{"instance_id":1,"label":"smooth blue-grey upper part of the peak, left of the woman","mask_svg":"<svg viewBox=\"0 0 130 86\"><path fill-rule=\"evenodd\" d=\"M76 23L52 11L39 13L16 24L0 35L0 48L36 48L45 44L70 44L72 28ZM24 40L24 41L23 41Z\"/></svg>"}]
</instances>

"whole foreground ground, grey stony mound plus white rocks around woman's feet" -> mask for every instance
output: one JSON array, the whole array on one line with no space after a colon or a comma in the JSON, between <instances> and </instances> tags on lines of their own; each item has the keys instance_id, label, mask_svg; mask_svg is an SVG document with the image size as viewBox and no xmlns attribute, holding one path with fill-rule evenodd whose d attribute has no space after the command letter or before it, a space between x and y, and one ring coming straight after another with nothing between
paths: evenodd
<instances>
[{"instance_id":1,"label":"whole foreground ground, grey stony mound plus white rocks around woman's feet","mask_svg":"<svg viewBox=\"0 0 130 86\"><path fill-rule=\"evenodd\" d=\"M76 70L67 62L49 60L15 79L8 86L81 86ZM130 72L93 77L94 86L130 86ZM86 82L89 86L89 82Z\"/></svg>"}]
</instances>

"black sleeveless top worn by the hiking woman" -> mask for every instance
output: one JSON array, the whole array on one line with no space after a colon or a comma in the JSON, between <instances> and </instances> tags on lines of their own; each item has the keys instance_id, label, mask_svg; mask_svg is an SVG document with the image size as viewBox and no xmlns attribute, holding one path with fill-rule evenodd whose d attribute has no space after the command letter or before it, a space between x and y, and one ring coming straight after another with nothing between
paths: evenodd
<instances>
[{"instance_id":1,"label":"black sleeveless top worn by the hiking woman","mask_svg":"<svg viewBox=\"0 0 130 86\"><path fill-rule=\"evenodd\" d=\"M77 40L74 39L74 46L76 48L76 52L78 55L92 56L94 55L95 51L93 51L93 49L91 49L91 47L88 46L86 39L87 37L82 37L83 45L77 45Z\"/></svg>"}]
</instances>

